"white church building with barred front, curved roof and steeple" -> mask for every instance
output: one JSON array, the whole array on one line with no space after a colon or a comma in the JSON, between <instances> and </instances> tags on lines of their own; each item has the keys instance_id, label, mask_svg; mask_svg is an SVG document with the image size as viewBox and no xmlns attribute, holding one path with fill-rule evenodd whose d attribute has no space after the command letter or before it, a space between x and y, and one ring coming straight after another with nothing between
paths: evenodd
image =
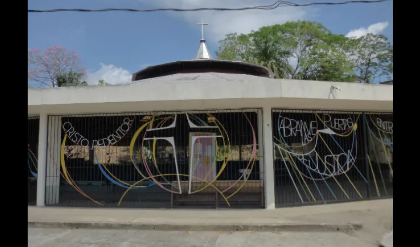
<instances>
[{"instance_id":1,"label":"white church building with barred front, curved roof and steeple","mask_svg":"<svg viewBox=\"0 0 420 247\"><path fill-rule=\"evenodd\" d=\"M193 54L192 54L193 55ZM28 88L28 205L304 206L392 197L393 85L212 59Z\"/></svg>"}]
</instances>

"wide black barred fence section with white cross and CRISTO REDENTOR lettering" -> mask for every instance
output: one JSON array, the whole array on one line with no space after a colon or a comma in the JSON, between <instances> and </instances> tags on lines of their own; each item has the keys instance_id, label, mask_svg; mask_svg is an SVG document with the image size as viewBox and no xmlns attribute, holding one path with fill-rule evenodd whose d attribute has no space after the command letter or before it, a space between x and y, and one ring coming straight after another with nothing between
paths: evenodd
<instances>
[{"instance_id":1,"label":"wide black barred fence section with white cross and CRISTO REDENTOR lettering","mask_svg":"<svg viewBox=\"0 0 420 247\"><path fill-rule=\"evenodd\" d=\"M45 205L263 207L257 111L49 116Z\"/></svg>"}]
</instances>

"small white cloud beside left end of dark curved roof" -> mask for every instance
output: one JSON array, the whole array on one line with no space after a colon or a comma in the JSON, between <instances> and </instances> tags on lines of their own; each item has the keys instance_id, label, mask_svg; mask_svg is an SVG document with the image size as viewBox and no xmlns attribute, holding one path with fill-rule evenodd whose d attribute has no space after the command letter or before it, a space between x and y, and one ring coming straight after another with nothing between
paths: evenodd
<instances>
[{"instance_id":1,"label":"small white cloud beside left end of dark curved roof","mask_svg":"<svg viewBox=\"0 0 420 247\"><path fill-rule=\"evenodd\" d=\"M113 64L100 63L101 68L87 75L86 82L90 85L97 84L99 80L104 80L110 84L131 82L131 73L123 68L118 68Z\"/></svg>"}]
</instances>

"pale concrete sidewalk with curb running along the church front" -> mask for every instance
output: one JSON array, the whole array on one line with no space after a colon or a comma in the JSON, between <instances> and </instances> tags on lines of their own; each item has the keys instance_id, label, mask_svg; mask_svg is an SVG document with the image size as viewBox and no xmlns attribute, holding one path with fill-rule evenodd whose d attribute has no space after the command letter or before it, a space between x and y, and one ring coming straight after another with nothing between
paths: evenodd
<instances>
[{"instance_id":1,"label":"pale concrete sidewalk with curb running along the church front","mask_svg":"<svg viewBox=\"0 0 420 247\"><path fill-rule=\"evenodd\" d=\"M360 230L362 227L378 228L378 224L386 225L391 216L392 199L274 210L28 206L28 227L179 231L351 231Z\"/></svg>"}]
</instances>

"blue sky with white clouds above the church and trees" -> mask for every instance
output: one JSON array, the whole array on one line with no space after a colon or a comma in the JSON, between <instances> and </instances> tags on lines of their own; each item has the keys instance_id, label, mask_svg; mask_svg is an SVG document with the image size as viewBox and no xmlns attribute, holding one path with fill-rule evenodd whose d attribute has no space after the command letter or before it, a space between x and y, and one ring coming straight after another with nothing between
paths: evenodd
<instances>
[{"instance_id":1,"label":"blue sky with white clouds above the church and trees","mask_svg":"<svg viewBox=\"0 0 420 247\"><path fill-rule=\"evenodd\" d=\"M298 3L326 0L294 0ZM328 0L341 1L341 0ZM52 8L195 8L265 5L275 0L28 0L30 9ZM392 0L333 6L283 7L235 12L57 12L28 13L28 48L59 45L75 50L89 72L88 82L130 81L147 67L192 59L198 49L203 19L205 38L215 57L218 40L227 33L294 20L318 21L347 35L380 33L392 42Z\"/></svg>"}]
</instances>

